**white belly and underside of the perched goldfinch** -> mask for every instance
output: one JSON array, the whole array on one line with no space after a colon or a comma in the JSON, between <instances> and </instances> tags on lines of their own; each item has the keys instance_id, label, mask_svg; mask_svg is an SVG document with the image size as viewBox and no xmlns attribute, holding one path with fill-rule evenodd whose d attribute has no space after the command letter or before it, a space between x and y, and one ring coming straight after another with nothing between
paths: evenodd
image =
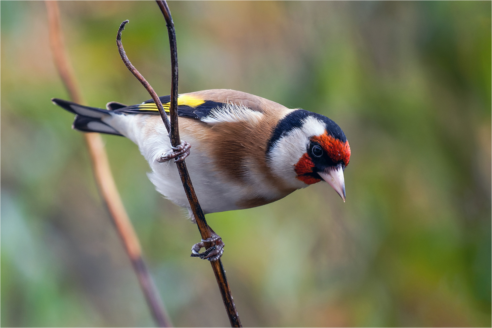
<instances>
[{"instance_id":1,"label":"white belly and underside of the perched goldfinch","mask_svg":"<svg viewBox=\"0 0 492 328\"><path fill-rule=\"evenodd\" d=\"M157 158L171 149L169 137L159 116L154 115L115 115L108 123L138 145L140 152L149 162L152 172L148 177L155 189L174 204L189 208L189 203L173 160L159 163ZM285 197L290 192L278 193L261 177L253 177L246 182L233 182L224 178L207 149L186 129L180 130L182 140L191 144L190 155L186 157L188 169L198 201L204 213L214 213L233 209L244 209L271 203ZM293 190L292 190L293 191Z\"/></svg>"}]
</instances>

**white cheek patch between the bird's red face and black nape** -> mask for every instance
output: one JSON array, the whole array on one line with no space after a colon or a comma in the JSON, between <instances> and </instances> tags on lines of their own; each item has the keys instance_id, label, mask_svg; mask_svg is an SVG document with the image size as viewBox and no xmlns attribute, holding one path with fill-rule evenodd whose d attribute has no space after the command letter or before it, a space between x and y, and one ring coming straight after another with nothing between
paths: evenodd
<instances>
[{"instance_id":1,"label":"white cheek patch between the bird's red face and black nape","mask_svg":"<svg viewBox=\"0 0 492 328\"><path fill-rule=\"evenodd\" d=\"M309 138L322 135L325 132L324 122L313 117L307 117L301 128L294 128L287 135L278 139L269 154L269 163L273 173L292 187L307 187L306 183L296 178L294 166L307 152Z\"/></svg>"}]
</instances>

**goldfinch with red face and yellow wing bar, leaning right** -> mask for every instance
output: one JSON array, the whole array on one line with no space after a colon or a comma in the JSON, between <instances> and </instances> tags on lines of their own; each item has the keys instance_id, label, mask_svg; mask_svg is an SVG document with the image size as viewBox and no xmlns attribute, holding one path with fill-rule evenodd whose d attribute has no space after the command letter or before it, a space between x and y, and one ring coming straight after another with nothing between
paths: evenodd
<instances>
[{"instance_id":1,"label":"goldfinch with red face and yellow wing bar, leaning right","mask_svg":"<svg viewBox=\"0 0 492 328\"><path fill-rule=\"evenodd\" d=\"M169 115L170 96L159 98ZM175 163L184 159L205 214L266 205L320 181L345 202L350 146L338 124L321 114L231 89L182 93L178 123L186 141L173 148L152 99L131 106L113 101L106 109L59 98L52 102L76 114L75 130L133 141L149 163L155 189L187 209L192 222ZM219 239L217 245L223 246ZM194 254L197 245L203 247L203 240L194 245ZM222 252L207 259L216 260Z\"/></svg>"}]
</instances>

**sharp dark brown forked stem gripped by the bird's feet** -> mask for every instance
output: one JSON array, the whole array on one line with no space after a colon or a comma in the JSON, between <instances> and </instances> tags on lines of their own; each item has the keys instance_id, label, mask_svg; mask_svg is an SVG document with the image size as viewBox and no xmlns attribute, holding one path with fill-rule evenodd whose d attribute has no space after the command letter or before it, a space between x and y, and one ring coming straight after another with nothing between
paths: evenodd
<instances>
[{"instance_id":1,"label":"sharp dark brown forked stem gripped by the bird's feet","mask_svg":"<svg viewBox=\"0 0 492 328\"><path fill-rule=\"evenodd\" d=\"M126 67L132 72L132 74L142 83L142 85L147 89L149 94L151 95L154 103L157 105L157 109L159 110L159 114L166 126L166 129L169 133L169 138L171 140L171 145L176 147L181 143L178 129L178 55L176 48L176 34L174 30L174 23L172 21L171 13L169 11L169 7L167 6L166 1L156 1L159 5L162 14L166 20L166 26L169 34L169 43L171 47L171 102L170 102L170 116L171 116L171 126L168 127L168 118L166 113L164 112L164 108L162 107L162 103L155 93L154 89L149 85L147 80L138 72L138 70L131 64L130 60L126 57L126 54L123 49L123 44L121 41L121 33L124 29L124 26L128 21L124 21L120 29L118 30L117 35L117 45L118 51L120 52L120 56L126 65ZM186 169L185 161L176 163L178 167L178 171L180 174L181 181L183 183L184 191L188 198L191 210L193 215L195 216L195 220L198 225L198 229L202 236L202 239L208 239L212 237L213 230L207 225L207 221L205 220L205 215L200 207L200 203L198 202L198 198L196 197L195 190L193 189L193 185L191 183L191 179L188 174L188 170ZM212 245L208 245L207 248ZM222 300L224 301L224 306L227 311L227 315L229 317L229 321L232 327L242 327L241 321L239 320L239 315L236 310L236 306L234 304L234 300L232 298L231 290L229 288L229 283L227 282L227 277L225 275L224 267L222 266L222 261L219 259L218 261L211 261L212 268L215 273L215 279L217 280L217 284L219 286L220 294L222 296Z\"/></svg>"}]
</instances>

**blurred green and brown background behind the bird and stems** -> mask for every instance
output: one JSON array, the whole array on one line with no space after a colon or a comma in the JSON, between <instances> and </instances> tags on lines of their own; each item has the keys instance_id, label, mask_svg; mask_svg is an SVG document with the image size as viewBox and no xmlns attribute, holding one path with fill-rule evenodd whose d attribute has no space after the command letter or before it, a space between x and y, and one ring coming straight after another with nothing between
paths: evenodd
<instances>
[{"instance_id":1,"label":"blurred green and brown background behind the bird and stems","mask_svg":"<svg viewBox=\"0 0 492 328\"><path fill-rule=\"evenodd\" d=\"M491 1L170 1L180 92L237 89L334 119L352 149L328 184L215 213L245 327L491 326ZM62 1L91 106L169 94L153 1ZM54 67L45 5L1 1L1 326L154 326ZM103 137L175 326L229 325L184 211L129 140Z\"/></svg>"}]
</instances>

